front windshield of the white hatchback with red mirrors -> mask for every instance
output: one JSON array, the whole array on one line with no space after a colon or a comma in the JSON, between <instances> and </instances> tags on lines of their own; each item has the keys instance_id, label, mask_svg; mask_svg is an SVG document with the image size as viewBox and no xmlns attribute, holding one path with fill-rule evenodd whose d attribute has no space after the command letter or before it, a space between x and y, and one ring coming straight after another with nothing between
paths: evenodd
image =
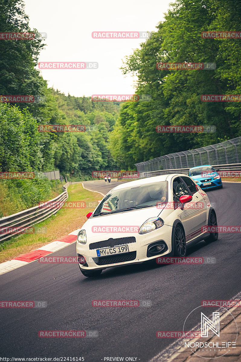
<instances>
[{"instance_id":1,"label":"front windshield of the white hatchback with red mirrors","mask_svg":"<svg viewBox=\"0 0 241 362\"><path fill-rule=\"evenodd\" d=\"M167 181L136 185L109 192L92 216L156 206L167 200Z\"/></svg>"}]
</instances>

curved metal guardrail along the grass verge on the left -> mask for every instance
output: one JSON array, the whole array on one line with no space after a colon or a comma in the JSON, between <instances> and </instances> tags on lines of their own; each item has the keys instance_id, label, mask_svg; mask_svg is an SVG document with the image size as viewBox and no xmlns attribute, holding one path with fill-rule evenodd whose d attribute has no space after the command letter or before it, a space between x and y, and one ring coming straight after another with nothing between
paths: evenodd
<instances>
[{"instance_id":1,"label":"curved metal guardrail along the grass verge on the left","mask_svg":"<svg viewBox=\"0 0 241 362\"><path fill-rule=\"evenodd\" d=\"M10 237L22 233L29 227L56 214L61 209L63 203L68 199L67 187L70 182L63 185L62 194L54 199L43 202L41 205L17 212L16 214L5 216L0 219L0 242Z\"/></svg>"}]
</instances>

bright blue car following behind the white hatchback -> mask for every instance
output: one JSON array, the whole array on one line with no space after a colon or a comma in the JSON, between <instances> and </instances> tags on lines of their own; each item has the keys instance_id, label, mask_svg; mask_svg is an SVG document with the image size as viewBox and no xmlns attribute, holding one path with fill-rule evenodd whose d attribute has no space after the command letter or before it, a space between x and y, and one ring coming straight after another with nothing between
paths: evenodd
<instances>
[{"instance_id":1,"label":"bright blue car following behind the white hatchback","mask_svg":"<svg viewBox=\"0 0 241 362\"><path fill-rule=\"evenodd\" d=\"M192 167L189 176L193 178L198 186L203 189L222 189L221 176L211 165Z\"/></svg>"}]
</instances>

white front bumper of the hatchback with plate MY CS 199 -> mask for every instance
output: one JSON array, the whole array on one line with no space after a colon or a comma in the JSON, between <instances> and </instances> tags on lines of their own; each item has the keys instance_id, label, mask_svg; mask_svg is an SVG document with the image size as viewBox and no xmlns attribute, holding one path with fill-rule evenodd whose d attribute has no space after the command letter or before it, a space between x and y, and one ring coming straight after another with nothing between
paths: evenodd
<instances>
[{"instance_id":1,"label":"white front bumper of the hatchback with plate MY CS 199","mask_svg":"<svg viewBox=\"0 0 241 362\"><path fill-rule=\"evenodd\" d=\"M168 225L163 225L161 228L151 231L149 233L140 235L138 233L132 233L131 235L126 235L126 233L108 233L108 234L99 234L97 236L90 237L87 239L87 244L79 244L76 242L76 253L77 256L82 255L88 266L84 266L82 264L79 264L81 269L85 270L97 270L97 269L106 269L106 268L112 268L113 266L120 266L120 265L127 265L127 264L136 264L136 263L143 263L145 261L149 261L152 259L155 259L158 256L164 256L166 254L169 254L171 252L171 233L172 233L172 227ZM97 257L96 249L89 248L89 245L92 243L97 243L99 241L106 240L112 238L112 239L120 239L120 238L126 238L134 236L136 238L135 243L126 243L129 248L129 253L123 253L123 254L117 254L114 256L101 256ZM154 256L147 257L147 247L155 243L156 241L164 241L167 245L167 250L164 252L160 252ZM119 244L121 245L121 244ZM118 246L118 244L116 245ZM104 247L108 247L107 245ZM110 246L112 247L112 245ZM120 260L117 260L118 257ZM106 258L104 260L104 258ZM102 260L101 260L102 259ZM129 260L126 260L129 259ZM104 260L104 261L103 261ZM125 260L125 261L123 261ZM113 262L112 262L113 261ZM106 264L105 264L106 262Z\"/></svg>"}]
</instances>

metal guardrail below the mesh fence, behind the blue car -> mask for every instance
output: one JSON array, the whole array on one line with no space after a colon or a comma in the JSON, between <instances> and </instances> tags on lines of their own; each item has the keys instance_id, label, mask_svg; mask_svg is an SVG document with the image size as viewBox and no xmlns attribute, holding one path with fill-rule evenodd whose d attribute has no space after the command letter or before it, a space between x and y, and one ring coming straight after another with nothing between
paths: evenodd
<instances>
[{"instance_id":1,"label":"metal guardrail below the mesh fence, behind the blue car","mask_svg":"<svg viewBox=\"0 0 241 362\"><path fill-rule=\"evenodd\" d=\"M225 164L225 165L212 165L212 167L219 171L241 171L241 163L232 163L232 164ZM134 177L134 176L122 176L118 177L119 180L139 180L141 178L146 177L152 177L152 176L159 176L159 175L165 175L169 173L183 173L185 175L188 175L189 168L171 168L168 170L158 170L158 171L147 171L147 172L141 172L140 176Z\"/></svg>"}]
</instances>

